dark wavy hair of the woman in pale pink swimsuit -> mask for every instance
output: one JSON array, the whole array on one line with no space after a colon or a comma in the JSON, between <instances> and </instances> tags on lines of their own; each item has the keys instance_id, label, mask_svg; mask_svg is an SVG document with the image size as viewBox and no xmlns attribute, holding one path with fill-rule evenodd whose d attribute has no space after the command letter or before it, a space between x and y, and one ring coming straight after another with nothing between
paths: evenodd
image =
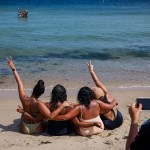
<instances>
[{"instance_id":1,"label":"dark wavy hair of the woman in pale pink swimsuit","mask_svg":"<svg viewBox=\"0 0 150 150\"><path fill-rule=\"evenodd\" d=\"M89 108L92 99L94 99L94 92L89 87L82 87L79 90L77 100L80 104Z\"/></svg>"}]
</instances>

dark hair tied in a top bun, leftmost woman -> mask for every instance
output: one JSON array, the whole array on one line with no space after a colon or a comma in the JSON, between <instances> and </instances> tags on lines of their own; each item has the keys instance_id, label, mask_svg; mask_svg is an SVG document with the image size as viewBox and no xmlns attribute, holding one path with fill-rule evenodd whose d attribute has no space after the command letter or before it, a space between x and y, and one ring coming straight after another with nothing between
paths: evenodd
<instances>
[{"instance_id":1,"label":"dark hair tied in a top bun, leftmost woman","mask_svg":"<svg viewBox=\"0 0 150 150\"><path fill-rule=\"evenodd\" d=\"M33 95L35 96L41 96L45 92L45 86L44 86L44 81L39 80L35 87L33 88Z\"/></svg>"}]
</instances>

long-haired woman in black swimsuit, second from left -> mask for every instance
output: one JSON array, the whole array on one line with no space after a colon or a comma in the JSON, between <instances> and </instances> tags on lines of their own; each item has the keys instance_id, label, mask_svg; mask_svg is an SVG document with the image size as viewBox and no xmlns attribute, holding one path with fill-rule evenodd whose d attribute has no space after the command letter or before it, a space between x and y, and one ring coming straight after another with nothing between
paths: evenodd
<instances>
[{"instance_id":1,"label":"long-haired woman in black swimsuit, second from left","mask_svg":"<svg viewBox=\"0 0 150 150\"><path fill-rule=\"evenodd\" d=\"M57 84L51 92L51 100L46 103L46 106L52 112L57 109L64 101L67 100L67 92L64 86ZM65 107L60 114L65 114L70 110L71 106ZM67 135L73 132L73 125L71 120L55 121L48 120L47 132L50 135Z\"/></svg>"}]
</instances>

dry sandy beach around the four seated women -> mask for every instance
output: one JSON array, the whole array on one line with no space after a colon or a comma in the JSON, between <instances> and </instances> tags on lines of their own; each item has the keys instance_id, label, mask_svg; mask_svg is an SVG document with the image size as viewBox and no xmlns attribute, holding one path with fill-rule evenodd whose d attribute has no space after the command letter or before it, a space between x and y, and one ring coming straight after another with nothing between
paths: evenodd
<instances>
[{"instance_id":1,"label":"dry sandy beach around the four seated women","mask_svg":"<svg viewBox=\"0 0 150 150\"><path fill-rule=\"evenodd\" d=\"M67 89L68 100L75 102L78 89ZM150 97L150 88L110 88L109 91L117 99L118 109L124 117L123 125L115 130L104 130L99 135L82 137L78 135L49 136L46 133L41 135L24 135L18 132L20 114L16 112L20 104L17 90L0 90L0 150L124 150L130 117L128 107L136 97ZM47 89L41 100L48 101L50 89ZM27 91L28 94L31 91ZM140 124L149 118L150 112L141 113Z\"/></svg>"}]
</instances>

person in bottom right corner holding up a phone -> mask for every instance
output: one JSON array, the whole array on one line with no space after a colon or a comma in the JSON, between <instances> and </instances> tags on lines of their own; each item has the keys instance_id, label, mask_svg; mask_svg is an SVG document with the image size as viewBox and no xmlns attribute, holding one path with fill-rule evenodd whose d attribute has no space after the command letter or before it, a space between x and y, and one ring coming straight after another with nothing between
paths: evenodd
<instances>
[{"instance_id":1,"label":"person in bottom right corner holding up a phone","mask_svg":"<svg viewBox=\"0 0 150 150\"><path fill-rule=\"evenodd\" d=\"M149 149L150 139L150 119L144 122L138 132L138 123L140 113L142 110L142 104L136 106L133 103L129 108L129 114L131 117L131 125L129 135L126 141L126 150L147 150Z\"/></svg>"}]
</instances>

